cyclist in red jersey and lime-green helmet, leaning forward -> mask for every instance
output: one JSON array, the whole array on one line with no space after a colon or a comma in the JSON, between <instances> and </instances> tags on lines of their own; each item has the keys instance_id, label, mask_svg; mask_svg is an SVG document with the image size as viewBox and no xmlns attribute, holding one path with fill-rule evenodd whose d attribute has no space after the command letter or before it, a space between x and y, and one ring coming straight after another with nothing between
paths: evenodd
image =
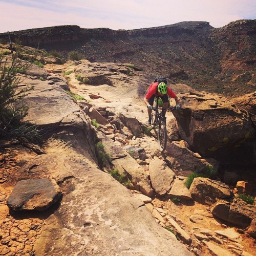
<instances>
[{"instance_id":1,"label":"cyclist in red jersey and lime-green helmet, leaning forward","mask_svg":"<svg viewBox=\"0 0 256 256\"><path fill-rule=\"evenodd\" d=\"M144 102L147 105L147 113L148 113L148 124L151 124L151 113L152 113L152 106L154 103L154 99L156 95L163 101L163 116L165 116L166 110L168 108L168 96L175 99L176 102L176 110L180 109L179 105L179 98L173 92L172 89L167 87L167 79L164 76L157 77L154 83L148 88L148 92L144 97ZM165 111L164 111L165 109Z\"/></svg>"}]
</instances>

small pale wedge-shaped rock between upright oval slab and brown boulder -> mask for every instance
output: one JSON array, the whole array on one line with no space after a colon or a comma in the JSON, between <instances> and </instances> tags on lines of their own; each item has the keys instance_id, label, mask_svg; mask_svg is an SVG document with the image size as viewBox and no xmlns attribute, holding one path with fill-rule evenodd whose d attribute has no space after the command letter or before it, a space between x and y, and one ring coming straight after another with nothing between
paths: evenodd
<instances>
[{"instance_id":1,"label":"small pale wedge-shaped rock between upright oval slab and brown boulder","mask_svg":"<svg viewBox=\"0 0 256 256\"><path fill-rule=\"evenodd\" d=\"M177 197L183 200L192 200L189 189L185 186L185 180L181 177L177 177L174 181L172 188L170 189L168 196Z\"/></svg>"}]
</instances>

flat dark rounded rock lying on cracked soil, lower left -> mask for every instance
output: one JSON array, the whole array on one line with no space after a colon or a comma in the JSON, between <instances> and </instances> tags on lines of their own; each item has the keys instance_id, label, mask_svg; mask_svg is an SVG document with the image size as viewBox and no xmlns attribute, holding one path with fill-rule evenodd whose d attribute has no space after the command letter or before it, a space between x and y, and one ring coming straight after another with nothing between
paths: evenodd
<instances>
[{"instance_id":1,"label":"flat dark rounded rock lying on cracked soil, lower left","mask_svg":"<svg viewBox=\"0 0 256 256\"><path fill-rule=\"evenodd\" d=\"M7 205L12 210L45 210L57 202L61 196L57 184L48 179L18 181Z\"/></svg>"}]
</instances>

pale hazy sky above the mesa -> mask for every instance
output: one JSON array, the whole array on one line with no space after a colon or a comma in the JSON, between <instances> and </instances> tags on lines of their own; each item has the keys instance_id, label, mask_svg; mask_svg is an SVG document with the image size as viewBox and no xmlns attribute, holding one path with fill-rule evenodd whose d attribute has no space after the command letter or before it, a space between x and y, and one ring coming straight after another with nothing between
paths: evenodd
<instances>
[{"instance_id":1,"label":"pale hazy sky above the mesa","mask_svg":"<svg viewBox=\"0 0 256 256\"><path fill-rule=\"evenodd\" d=\"M0 33L59 25L129 30L185 21L219 28L255 18L255 0L0 0Z\"/></svg>"}]
</instances>

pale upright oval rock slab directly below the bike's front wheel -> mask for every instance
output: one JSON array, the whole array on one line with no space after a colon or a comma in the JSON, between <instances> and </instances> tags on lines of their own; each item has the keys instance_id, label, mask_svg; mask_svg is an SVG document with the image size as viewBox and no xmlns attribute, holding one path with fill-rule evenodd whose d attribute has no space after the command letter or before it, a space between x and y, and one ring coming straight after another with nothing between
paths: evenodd
<instances>
[{"instance_id":1,"label":"pale upright oval rock slab directly below the bike's front wheel","mask_svg":"<svg viewBox=\"0 0 256 256\"><path fill-rule=\"evenodd\" d=\"M151 183L157 196L164 196L174 181L175 173L167 164L155 157L148 166L150 172Z\"/></svg>"}]
</instances>

